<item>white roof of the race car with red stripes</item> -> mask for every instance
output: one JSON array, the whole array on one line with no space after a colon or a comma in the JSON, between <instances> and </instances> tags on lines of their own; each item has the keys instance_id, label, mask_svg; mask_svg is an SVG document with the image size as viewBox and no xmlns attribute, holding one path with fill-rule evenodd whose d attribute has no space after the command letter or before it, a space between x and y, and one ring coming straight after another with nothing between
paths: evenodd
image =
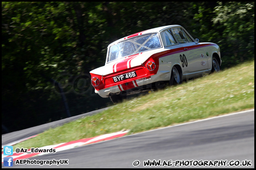
<instances>
[{"instance_id":1,"label":"white roof of the race car with red stripes","mask_svg":"<svg viewBox=\"0 0 256 170\"><path fill-rule=\"evenodd\" d=\"M157 28L152 28L152 29L144 30L142 32L138 32L138 33L135 33L135 34L123 37L123 38L121 38L119 40L116 40L116 41L112 42L110 45L108 45L108 47L110 47L110 46L112 46L114 44L117 44L120 41L129 39L129 38L133 38L135 36L139 36L139 35L143 35L143 34L149 34L149 33L155 33L155 32L160 33L162 30L165 30L167 28L174 28L174 27L181 27L181 26L180 25L170 25L170 26L163 26L163 27L157 27Z\"/></svg>"}]
</instances>

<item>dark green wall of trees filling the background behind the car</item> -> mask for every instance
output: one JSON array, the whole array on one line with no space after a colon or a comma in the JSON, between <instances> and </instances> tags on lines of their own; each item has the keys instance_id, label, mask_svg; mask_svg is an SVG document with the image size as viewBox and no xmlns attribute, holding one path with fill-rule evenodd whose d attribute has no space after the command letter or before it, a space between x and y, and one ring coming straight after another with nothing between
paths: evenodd
<instances>
[{"instance_id":1,"label":"dark green wall of trees filling the background behind the car","mask_svg":"<svg viewBox=\"0 0 256 170\"><path fill-rule=\"evenodd\" d=\"M254 58L254 2L2 2L2 125L65 118L57 80L73 88L65 93L71 115L106 107L78 76L104 65L111 42L172 24L217 43L222 68Z\"/></svg>"}]
</instances>

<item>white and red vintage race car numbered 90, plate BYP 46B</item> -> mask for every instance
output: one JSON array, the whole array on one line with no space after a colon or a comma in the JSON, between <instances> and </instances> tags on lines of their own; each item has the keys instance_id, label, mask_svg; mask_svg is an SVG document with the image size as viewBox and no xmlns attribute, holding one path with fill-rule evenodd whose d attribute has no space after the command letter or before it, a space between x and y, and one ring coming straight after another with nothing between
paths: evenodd
<instances>
[{"instance_id":1,"label":"white and red vintage race car numbered 90, plate BYP 46B","mask_svg":"<svg viewBox=\"0 0 256 170\"><path fill-rule=\"evenodd\" d=\"M105 66L90 72L95 93L116 103L164 84L219 72L220 48L199 43L181 26L171 25L126 36L108 45Z\"/></svg>"}]
</instances>

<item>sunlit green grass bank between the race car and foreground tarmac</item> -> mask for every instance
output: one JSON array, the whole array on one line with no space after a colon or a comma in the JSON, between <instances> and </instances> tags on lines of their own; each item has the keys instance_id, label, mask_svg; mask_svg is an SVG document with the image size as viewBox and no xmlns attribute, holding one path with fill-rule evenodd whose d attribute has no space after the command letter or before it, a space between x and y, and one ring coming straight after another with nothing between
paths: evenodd
<instances>
[{"instance_id":1,"label":"sunlit green grass bank between the race car and foreground tarmac","mask_svg":"<svg viewBox=\"0 0 256 170\"><path fill-rule=\"evenodd\" d=\"M14 148L31 148L95 137L129 134L254 108L254 61L150 92L79 120L49 129Z\"/></svg>"}]
</instances>

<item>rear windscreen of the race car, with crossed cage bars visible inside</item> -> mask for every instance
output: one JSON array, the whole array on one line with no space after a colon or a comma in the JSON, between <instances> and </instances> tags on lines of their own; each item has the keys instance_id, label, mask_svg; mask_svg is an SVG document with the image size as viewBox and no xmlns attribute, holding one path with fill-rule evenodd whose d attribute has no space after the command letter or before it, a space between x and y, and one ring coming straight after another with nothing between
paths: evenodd
<instances>
[{"instance_id":1,"label":"rear windscreen of the race car, with crossed cage bars visible inside","mask_svg":"<svg viewBox=\"0 0 256 170\"><path fill-rule=\"evenodd\" d=\"M108 53L108 62L160 47L161 42L158 33L130 38L110 47L110 51Z\"/></svg>"}]
</instances>

